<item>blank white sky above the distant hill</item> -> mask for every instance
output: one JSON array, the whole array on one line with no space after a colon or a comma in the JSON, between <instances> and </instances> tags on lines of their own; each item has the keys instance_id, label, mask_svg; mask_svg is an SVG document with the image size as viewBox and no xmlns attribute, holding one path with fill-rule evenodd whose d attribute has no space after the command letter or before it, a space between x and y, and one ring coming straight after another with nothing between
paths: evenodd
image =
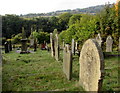
<instances>
[{"instance_id":1,"label":"blank white sky above the distant hill","mask_svg":"<svg viewBox=\"0 0 120 93\"><path fill-rule=\"evenodd\" d=\"M57 10L86 8L105 3L115 3L117 0L2 0L0 15L47 13Z\"/></svg>"}]
</instances>

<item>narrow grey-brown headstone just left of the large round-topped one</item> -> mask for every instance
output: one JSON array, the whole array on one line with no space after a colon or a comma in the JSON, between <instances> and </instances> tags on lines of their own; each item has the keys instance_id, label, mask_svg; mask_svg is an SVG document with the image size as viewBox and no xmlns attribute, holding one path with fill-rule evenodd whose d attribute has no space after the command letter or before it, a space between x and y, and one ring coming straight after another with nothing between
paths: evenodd
<instances>
[{"instance_id":1,"label":"narrow grey-brown headstone just left of the large round-topped one","mask_svg":"<svg viewBox=\"0 0 120 93\"><path fill-rule=\"evenodd\" d=\"M63 50L63 72L70 80L72 77L72 53L68 44L65 45Z\"/></svg>"}]
</instances>

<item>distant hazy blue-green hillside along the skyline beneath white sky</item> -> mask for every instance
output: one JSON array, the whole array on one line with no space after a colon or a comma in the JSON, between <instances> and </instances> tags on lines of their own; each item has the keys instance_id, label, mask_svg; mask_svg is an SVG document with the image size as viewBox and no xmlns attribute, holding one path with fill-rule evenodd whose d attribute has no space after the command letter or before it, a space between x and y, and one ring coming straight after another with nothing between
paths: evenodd
<instances>
[{"instance_id":1,"label":"distant hazy blue-green hillside along the skyline beneath white sky","mask_svg":"<svg viewBox=\"0 0 120 93\"><path fill-rule=\"evenodd\" d=\"M76 9L68 9L68 10L58 10L58 11L54 11L54 12L49 12L49 13L29 13L26 15L20 15L20 17L39 17L39 16L58 16L59 14L62 14L64 12L69 12L72 14L85 14L85 13L90 13L90 14L96 14L97 12L100 12L103 8L105 7L105 5L97 5L97 6L91 6L88 8L76 8Z\"/></svg>"}]
</instances>

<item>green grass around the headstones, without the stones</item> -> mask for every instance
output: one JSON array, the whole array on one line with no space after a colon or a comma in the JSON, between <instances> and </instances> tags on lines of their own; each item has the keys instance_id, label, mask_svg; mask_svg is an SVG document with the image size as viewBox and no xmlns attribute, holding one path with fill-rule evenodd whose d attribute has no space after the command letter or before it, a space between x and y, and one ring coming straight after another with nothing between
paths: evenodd
<instances>
[{"instance_id":1,"label":"green grass around the headstones, without the stones","mask_svg":"<svg viewBox=\"0 0 120 93\"><path fill-rule=\"evenodd\" d=\"M78 85L78 56L74 56L72 80L69 81L62 71L60 53L59 62L45 50L3 54L3 91L83 91ZM118 57L105 58L105 72L103 91L118 91Z\"/></svg>"}]
</instances>

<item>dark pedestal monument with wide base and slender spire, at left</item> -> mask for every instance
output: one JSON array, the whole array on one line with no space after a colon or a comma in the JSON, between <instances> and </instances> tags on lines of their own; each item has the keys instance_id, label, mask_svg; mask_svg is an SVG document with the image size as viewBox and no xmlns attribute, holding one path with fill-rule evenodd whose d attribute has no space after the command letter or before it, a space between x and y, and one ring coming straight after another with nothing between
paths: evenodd
<instances>
[{"instance_id":1,"label":"dark pedestal monument with wide base and slender spire, at left","mask_svg":"<svg viewBox=\"0 0 120 93\"><path fill-rule=\"evenodd\" d=\"M22 39L21 39L21 52L20 54L24 54L24 53L28 53L27 52L27 38L25 36L25 31L24 31L24 27L22 27Z\"/></svg>"}]
</instances>

